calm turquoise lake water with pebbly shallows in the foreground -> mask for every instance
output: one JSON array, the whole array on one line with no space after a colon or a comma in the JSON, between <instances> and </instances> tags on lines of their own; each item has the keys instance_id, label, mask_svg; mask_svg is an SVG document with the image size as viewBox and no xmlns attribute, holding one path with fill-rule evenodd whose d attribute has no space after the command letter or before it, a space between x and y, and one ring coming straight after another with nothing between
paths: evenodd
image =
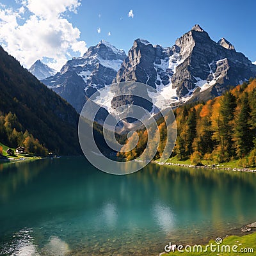
<instances>
[{"instance_id":1,"label":"calm turquoise lake water with pebbly shallows in the foreground","mask_svg":"<svg viewBox=\"0 0 256 256\"><path fill-rule=\"evenodd\" d=\"M100 172L82 157L0 164L0 255L159 255L256 216L256 173L149 164Z\"/></svg>"}]
</instances>

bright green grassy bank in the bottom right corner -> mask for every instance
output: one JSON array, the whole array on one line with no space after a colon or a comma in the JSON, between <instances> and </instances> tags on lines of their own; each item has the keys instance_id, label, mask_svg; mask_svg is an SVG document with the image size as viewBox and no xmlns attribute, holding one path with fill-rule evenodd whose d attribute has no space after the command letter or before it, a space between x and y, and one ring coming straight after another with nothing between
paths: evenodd
<instances>
[{"instance_id":1,"label":"bright green grassy bank in the bottom right corner","mask_svg":"<svg viewBox=\"0 0 256 256\"><path fill-rule=\"evenodd\" d=\"M193 255L255 255L256 253L256 232L253 234L248 234L246 236L229 236L229 237L225 237L225 239L223 239L223 243L220 244L220 251L219 252L211 252L211 248L208 247L207 252L204 252L205 250L205 246L210 246L211 244L217 245L216 242L214 240L209 241L208 244L205 244L202 246L202 252L198 252L199 249L195 248L195 250L193 249L193 246L191 246L191 252L186 252L184 250L184 248L182 250L184 250L184 252L178 252L177 250L175 250L175 252L170 252L170 253L162 253L161 255L188 255L188 256L193 256ZM177 244L179 245L179 244ZM221 246L229 246L230 247L230 252L226 252L225 248L223 247L223 250L221 252ZM234 247L234 250L236 250L237 252L234 252L232 250L232 246L236 246ZM187 250L190 250L190 248L188 247ZM216 250L218 250L218 247L216 247ZM227 249L228 250L228 249Z\"/></svg>"}]
</instances>

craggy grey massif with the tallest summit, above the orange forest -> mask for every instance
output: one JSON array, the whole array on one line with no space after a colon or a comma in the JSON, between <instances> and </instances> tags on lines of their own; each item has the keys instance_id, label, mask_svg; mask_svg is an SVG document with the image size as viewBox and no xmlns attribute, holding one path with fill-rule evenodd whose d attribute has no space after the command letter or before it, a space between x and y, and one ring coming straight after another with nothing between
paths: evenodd
<instances>
[{"instance_id":1,"label":"craggy grey massif with the tallest summit, above the orange forest","mask_svg":"<svg viewBox=\"0 0 256 256\"><path fill-rule=\"evenodd\" d=\"M255 77L253 65L225 38L216 43L199 25L172 47L135 40L115 82L137 81L156 88L173 106L221 95L229 86ZM113 100L113 105L116 104Z\"/></svg>"}]
</instances>

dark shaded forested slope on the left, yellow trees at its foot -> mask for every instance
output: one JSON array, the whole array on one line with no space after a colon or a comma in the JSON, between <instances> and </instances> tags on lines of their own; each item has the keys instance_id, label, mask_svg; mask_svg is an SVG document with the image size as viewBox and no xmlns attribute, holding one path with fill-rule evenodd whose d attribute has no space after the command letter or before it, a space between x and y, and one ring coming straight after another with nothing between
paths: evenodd
<instances>
[{"instance_id":1,"label":"dark shaded forested slope on the left, yellow trees at its foot","mask_svg":"<svg viewBox=\"0 0 256 256\"><path fill-rule=\"evenodd\" d=\"M79 154L78 115L0 47L0 142L29 152Z\"/></svg>"}]
</instances>

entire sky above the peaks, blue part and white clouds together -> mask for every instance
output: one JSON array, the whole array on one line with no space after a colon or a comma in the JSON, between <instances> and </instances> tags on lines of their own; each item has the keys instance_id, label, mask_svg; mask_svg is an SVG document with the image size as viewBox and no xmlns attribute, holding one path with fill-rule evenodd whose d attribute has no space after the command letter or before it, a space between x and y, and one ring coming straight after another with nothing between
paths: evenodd
<instances>
[{"instance_id":1,"label":"entire sky above the peaks, blue part and white clouds together","mask_svg":"<svg viewBox=\"0 0 256 256\"><path fill-rule=\"evenodd\" d=\"M211 4L202 0L0 0L0 3L0 43L25 66L41 58L58 69L101 39L126 53L136 38L172 46L195 24L200 24L215 41L225 37L236 51L256 61L256 1L252 0L217 0Z\"/></svg>"}]
</instances>

